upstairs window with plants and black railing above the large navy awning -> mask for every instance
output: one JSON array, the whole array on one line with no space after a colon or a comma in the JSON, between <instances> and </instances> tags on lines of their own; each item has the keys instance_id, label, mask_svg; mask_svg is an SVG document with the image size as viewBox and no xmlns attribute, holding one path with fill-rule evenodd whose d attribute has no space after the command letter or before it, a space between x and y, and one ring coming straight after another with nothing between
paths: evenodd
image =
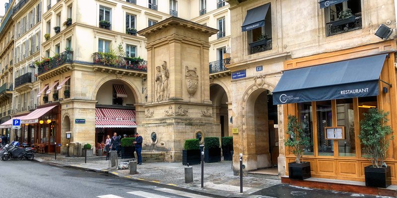
<instances>
[{"instance_id":1,"label":"upstairs window with plants and black railing above the large navy awning","mask_svg":"<svg viewBox=\"0 0 397 198\"><path fill-rule=\"evenodd\" d=\"M362 28L361 0L348 0L336 3L326 7L324 11L327 36Z\"/></svg>"}]
</instances>

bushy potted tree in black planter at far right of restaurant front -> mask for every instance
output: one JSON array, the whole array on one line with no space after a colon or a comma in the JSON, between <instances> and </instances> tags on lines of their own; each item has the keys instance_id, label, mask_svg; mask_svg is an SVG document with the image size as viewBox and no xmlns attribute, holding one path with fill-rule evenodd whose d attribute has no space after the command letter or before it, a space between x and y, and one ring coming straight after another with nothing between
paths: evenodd
<instances>
[{"instance_id":1,"label":"bushy potted tree in black planter at far right of restaurant front","mask_svg":"<svg viewBox=\"0 0 397 198\"><path fill-rule=\"evenodd\" d=\"M392 128L387 125L389 112L371 108L364 113L360 122L358 138L364 146L363 155L371 160L371 165L364 167L365 186L387 188L391 185L390 166L385 163L390 141L394 136Z\"/></svg>"}]
</instances>

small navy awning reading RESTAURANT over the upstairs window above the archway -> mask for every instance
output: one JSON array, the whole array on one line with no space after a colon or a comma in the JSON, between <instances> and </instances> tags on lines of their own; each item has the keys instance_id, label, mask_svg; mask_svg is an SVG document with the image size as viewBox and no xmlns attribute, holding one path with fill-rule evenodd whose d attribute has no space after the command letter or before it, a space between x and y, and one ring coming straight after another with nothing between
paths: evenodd
<instances>
[{"instance_id":1,"label":"small navy awning reading RESTAURANT over the upstairs window above the archway","mask_svg":"<svg viewBox=\"0 0 397 198\"><path fill-rule=\"evenodd\" d=\"M266 3L248 10L243 26L241 26L242 32L265 26L265 16L269 6L270 3Z\"/></svg>"}]
</instances>

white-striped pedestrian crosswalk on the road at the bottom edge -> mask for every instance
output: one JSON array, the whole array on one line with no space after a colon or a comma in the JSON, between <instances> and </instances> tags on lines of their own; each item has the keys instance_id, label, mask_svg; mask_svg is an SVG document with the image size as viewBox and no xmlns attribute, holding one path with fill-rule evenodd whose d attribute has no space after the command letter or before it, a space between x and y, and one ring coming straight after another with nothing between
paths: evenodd
<instances>
[{"instance_id":1,"label":"white-striped pedestrian crosswalk on the road at the bottom edge","mask_svg":"<svg viewBox=\"0 0 397 198\"><path fill-rule=\"evenodd\" d=\"M97 196L97 198L210 198L207 196L196 195L193 193L186 193L183 191L160 188L154 189L154 191L146 192L146 191L131 191L122 193L123 195L101 195ZM123 197L120 197L123 196Z\"/></svg>"}]
</instances>

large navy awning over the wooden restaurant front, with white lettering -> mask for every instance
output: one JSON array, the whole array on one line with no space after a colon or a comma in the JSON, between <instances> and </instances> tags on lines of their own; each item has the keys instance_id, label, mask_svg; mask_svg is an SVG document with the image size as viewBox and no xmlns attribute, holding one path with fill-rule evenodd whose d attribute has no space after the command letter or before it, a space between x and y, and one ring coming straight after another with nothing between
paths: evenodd
<instances>
[{"instance_id":1,"label":"large navy awning over the wooden restaurant front, with white lettering","mask_svg":"<svg viewBox=\"0 0 397 198\"><path fill-rule=\"evenodd\" d=\"M273 104L377 96L386 54L287 70Z\"/></svg>"}]
</instances>

